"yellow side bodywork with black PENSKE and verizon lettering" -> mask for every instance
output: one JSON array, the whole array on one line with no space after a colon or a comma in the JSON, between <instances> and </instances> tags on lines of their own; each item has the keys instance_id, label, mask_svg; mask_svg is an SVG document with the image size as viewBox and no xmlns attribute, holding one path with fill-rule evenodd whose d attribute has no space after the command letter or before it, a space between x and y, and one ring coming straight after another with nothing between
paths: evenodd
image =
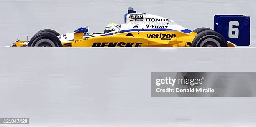
<instances>
[{"instance_id":1,"label":"yellow side bodywork with black PENSKE and verizon lettering","mask_svg":"<svg viewBox=\"0 0 256 127\"><path fill-rule=\"evenodd\" d=\"M133 36L127 36L132 34ZM152 36L153 35L153 36ZM186 47L197 34L180 31L133 31L114 35L83 38L81 33L74 34L74 41L62 42L72 47Z\"/></svg>"}]
</instances>

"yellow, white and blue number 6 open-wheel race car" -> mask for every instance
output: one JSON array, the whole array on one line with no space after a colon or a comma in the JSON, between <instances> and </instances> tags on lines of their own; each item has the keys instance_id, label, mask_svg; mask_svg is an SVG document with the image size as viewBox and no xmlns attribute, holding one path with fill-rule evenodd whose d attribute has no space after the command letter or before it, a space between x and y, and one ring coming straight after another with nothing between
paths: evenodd
<instances>
[{"instance_id":1,"label":"yellow, white and blue number 6 open-wheel race car","mask_svg":"<svg viewBox=\"0 0 256 127\"><path fill-rule=\"evenodd\" d=\"M16 41L12 47L234 47L250 45L250 17L215 15L214 30L184 28L173 20L137 13L128 8L125 24L109 23L102 33L88 33L81 27L60 35L50 29L36 33L30 41Z\"/></svg>"}]
</instances>

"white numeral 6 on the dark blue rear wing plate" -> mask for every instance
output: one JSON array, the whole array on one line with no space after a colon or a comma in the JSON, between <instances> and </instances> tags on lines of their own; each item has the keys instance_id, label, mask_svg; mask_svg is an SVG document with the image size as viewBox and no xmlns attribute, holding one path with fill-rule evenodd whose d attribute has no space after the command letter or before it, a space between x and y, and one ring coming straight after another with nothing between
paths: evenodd
<instances>
[{"instance_id":1,"label":"white numeral 6 on the dark blue rear wing plate","mask_svg":"<svg viewBox=\"0 0 256 127\"><path fill-rule=\"evenodd\" d=\"M233 25L239 26L238 21L229 21L228 24L228 37L229 38L238 38L239 36L239 29L238 28L233 28Z\"/></svg>"}]
</instances>

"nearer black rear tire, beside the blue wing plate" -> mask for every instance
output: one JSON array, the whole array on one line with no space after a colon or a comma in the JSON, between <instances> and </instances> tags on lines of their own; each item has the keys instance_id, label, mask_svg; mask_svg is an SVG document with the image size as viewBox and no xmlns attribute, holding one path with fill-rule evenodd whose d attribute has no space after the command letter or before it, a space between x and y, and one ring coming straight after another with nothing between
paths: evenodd
<instances>
[{"instance_id":1,"label":"nearer black rear tire, beside the blue wing plate","mask_svg":"<svg viewBox=\"0 0 256 127\"><path fill-rule=\"evenodd\" d=\"M205 30L197 34L192 42L192 47L227 47L227 41L218 32Z\"/></svg>"}]
</instances>

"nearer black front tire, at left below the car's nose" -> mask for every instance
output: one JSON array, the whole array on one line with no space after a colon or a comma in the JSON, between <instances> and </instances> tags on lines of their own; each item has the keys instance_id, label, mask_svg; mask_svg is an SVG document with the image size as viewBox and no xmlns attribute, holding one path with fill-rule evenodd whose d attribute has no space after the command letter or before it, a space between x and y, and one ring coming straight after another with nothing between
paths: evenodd
<instances>
[{"instance_id":1,"label":"nearer black front tire, at left below the car's nose","mask_svg":"<svg viewBox=\"0 0 256 127\"><path fill-rule=\"evenodd\" d=\"M54 33L40 32L33 36L28 46L31 47L62 47L61 41Z\"/></svg>"}]
</instances>

